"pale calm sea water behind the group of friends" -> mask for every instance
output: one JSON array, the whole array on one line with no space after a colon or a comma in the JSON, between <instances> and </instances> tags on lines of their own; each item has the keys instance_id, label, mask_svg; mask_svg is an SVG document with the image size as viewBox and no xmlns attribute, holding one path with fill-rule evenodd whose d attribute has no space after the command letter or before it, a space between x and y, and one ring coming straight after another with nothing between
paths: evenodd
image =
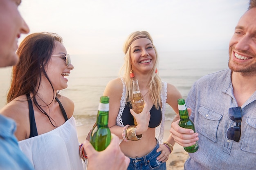
<instances>
[{"instance_id":1,"label":"pale calm sea water behind the group of friends","mask_svg":"<svg viewBox=\"0 0 256 170\"><path fill-rule=\"evenodd\" d=\"M158 72L162 81L171 83L186 98L191 85L200 77L228 68L228 50L158 52ZM99 98L108 81L117 78L124 62L124 54L71 55L74 70L68 78L68 87L60 94L74 101L77 126L96 121ZM0 107L6 104L11 68L0 69ZM167 105L166 120L172 120L174 111Z\"/></svg>"}]
</instances>

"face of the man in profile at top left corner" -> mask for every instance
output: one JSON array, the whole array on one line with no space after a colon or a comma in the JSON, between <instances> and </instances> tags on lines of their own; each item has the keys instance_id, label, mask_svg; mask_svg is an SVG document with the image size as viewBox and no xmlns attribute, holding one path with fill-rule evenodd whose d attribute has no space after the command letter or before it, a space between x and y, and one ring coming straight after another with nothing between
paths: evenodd
<instances>
[{"instance_id":1,"label":"face of the man in profile at top left corner","mask_svg":"<svg viewBox=\"0 0 256 170\"><path fill-rule=\"evenodd\" d=\"M29 28L18 12L20 0L0 0L0 67L18 62L18 38Z\"/></svg>"}]
</instances>

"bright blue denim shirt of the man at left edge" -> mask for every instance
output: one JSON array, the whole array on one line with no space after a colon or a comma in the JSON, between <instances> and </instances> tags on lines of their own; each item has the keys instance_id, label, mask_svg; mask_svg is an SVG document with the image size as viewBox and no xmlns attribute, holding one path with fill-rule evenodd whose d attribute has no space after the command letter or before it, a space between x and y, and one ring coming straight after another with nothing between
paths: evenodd
<instances>
[{"instance_id":1,"label":"bright blue denim shirt of the man at left edge","mask_svg":"<svg viewBox=\"0 0 256 170\"><path fill-rule=\"evenodd\" d=\"M34 170L18 146L15 130L15 122L0 115L0 170Z\"/></svg>"}]
</instances>

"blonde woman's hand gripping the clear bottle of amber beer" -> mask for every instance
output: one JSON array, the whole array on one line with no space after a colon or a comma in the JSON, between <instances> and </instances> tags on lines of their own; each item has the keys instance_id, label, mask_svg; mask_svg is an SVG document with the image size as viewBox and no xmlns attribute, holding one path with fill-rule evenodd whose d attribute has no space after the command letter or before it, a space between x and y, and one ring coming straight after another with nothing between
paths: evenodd
<instances>
[{"instance_id":1,"label":"blonde woman's hand gripping the clear bottle of amber beer","mask_svg":"<svg viewBox=\"0 0 256 170\"><path fill-rule=\"evenodd\" d=\"M148 129L148 124L150 120L150 112L148 110L147 102L144 102L144 108L141 113L137 114L135 111L130 109L132 116L137 120L137 129L136 133L138 135L143 134Z\"/></svg>"}]
</instances>

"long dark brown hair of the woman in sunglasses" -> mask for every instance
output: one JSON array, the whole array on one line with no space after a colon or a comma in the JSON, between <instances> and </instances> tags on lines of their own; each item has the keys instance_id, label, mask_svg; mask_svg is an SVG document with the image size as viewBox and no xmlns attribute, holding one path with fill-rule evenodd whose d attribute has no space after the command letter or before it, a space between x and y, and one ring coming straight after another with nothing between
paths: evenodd
<instances>
[{"instance_id":1,"label":"long dark brown hair of the woman in sunglasses","mask_svg":"<svg viewBox=\"0 0 256 170\"><path fill-rule=\"evenodd\" d=\"M32 93L31 99L34 104L42 113L47 115L51 123L51 118L38 104L35 96L37 95L42 75L47 78L52 86L46 74L45 65L47 65L48 61L51 59L55 41L62 43L62 38L56 33L43 32L28 35L21 42L17 50L20 61L17 65L13 66L11 87L7 94L7 103L9 103L18 96ZM54 93L53 86L52 91ZM54 97L52 101L53 100Z\"/></svg>"}]
</instances>

